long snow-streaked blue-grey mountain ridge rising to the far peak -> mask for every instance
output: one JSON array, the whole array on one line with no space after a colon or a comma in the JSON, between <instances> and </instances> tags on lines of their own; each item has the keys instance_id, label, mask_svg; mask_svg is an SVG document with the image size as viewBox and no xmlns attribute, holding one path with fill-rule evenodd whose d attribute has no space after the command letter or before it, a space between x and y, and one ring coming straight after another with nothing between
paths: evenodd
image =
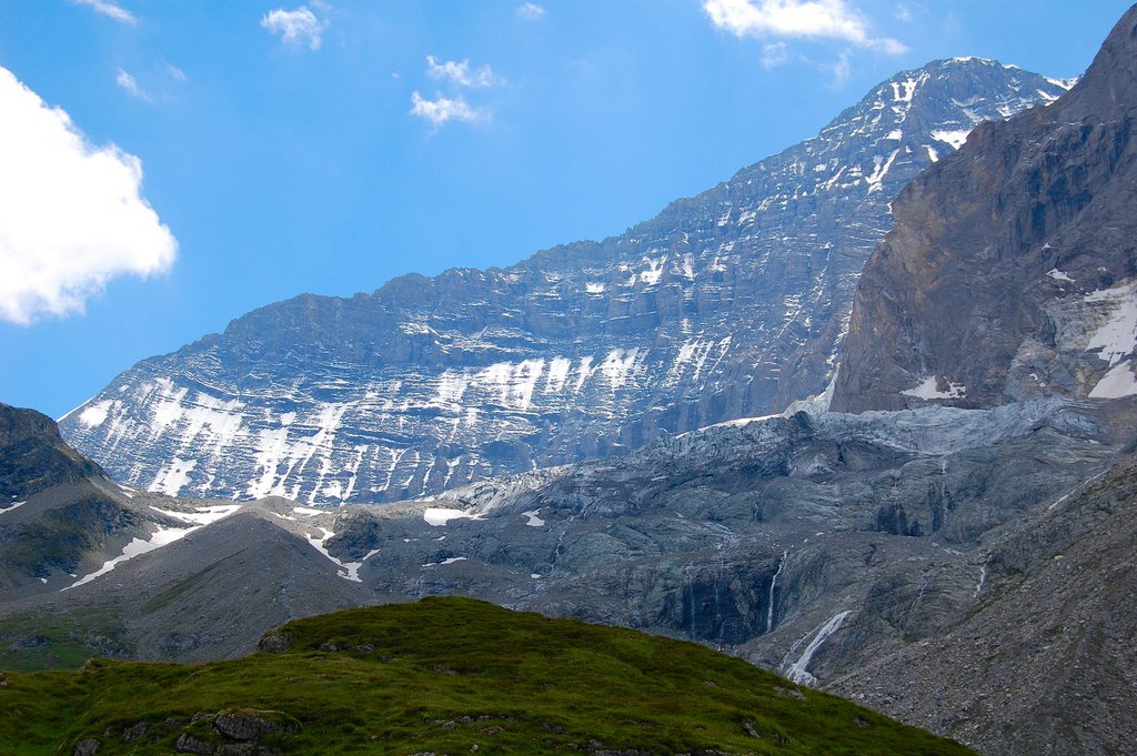
<instances>
[{"instance_id":1,"label":"long snow-streaked blue-grey mountain ridge rising to the far peak","mask_svg":"<svg viewBox=\"0 0 1137 756\"><path fill-rule=\"evenodd\" d=\"M901 73L621 236L264 307L139 363L61 429L139 488L339 504L780 412L830 383L901 188L1068 85L976 58Z\"/></svg>"}]
</instances>

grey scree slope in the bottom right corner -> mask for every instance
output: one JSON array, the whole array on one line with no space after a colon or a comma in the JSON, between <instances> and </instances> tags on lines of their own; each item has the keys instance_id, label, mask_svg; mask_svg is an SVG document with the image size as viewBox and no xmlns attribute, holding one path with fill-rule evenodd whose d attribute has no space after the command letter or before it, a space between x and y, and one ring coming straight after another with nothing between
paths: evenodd
<instances>
[{"instance_id":1,"label":"grey scree slope in the bottom right corner","mask_svg":"<svg viewBox=\"0 0 1137 756\"><path fill-rule=\"evenodd\" d=\"M994 539L987 585L965 622L871 661L832 689L989 756L1130 750L1135 565L1130 462Z\"/></svg>"}]
</instances>

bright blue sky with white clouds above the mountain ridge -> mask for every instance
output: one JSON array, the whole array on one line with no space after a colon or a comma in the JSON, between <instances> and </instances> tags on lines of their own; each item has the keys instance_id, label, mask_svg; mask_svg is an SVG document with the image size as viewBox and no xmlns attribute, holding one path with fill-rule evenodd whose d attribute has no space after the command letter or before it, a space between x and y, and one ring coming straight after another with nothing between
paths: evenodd
<instances>
[{"instance_id":1,"label":"bright blue sky with white clouds above the mountain ridge","mask_svg":"<svg viewBox=\"0 0 1137 756\"><path fill-rule=\"evenodd\" d=\"M59 416L262 305L620 233L936 58L1077 75L1127 7L5 0L0 401Z\"/></svg>"}]
</instances>

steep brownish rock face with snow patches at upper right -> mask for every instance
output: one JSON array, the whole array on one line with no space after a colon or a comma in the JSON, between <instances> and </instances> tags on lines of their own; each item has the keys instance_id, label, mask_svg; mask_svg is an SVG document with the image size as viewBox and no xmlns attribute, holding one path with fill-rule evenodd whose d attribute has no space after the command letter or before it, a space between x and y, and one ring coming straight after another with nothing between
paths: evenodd
<instances>
[{"instance_id":1,"label":"steep brownish rock face with snow patches at upper right","mask_svg":"<svg viewBox=\"0 0 1137 756\"><path fill-rule=\"evenodd\" d=\"M832 407L1137 393L1137 11L1047 108L918 176L857 284Z\"/></svg>"}]
</instances>

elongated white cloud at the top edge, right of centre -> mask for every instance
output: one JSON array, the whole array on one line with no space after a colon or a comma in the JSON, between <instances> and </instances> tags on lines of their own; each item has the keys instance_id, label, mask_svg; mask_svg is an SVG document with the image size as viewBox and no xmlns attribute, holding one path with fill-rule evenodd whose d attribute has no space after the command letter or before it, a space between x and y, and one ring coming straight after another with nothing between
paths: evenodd
<instances>
[{"instance_id":1,"label":"elongated white cloud at the top edge, right of centre","mask_svg":"<svg viewBox=\"0 0 1137 756\"><path fill-rule=\"evenodd\" d=\"M907 47L873 38L864 17L846 0L703 0L711 23L735 36L831 39L896 55Z\"/></svg>"}]
</instances>

